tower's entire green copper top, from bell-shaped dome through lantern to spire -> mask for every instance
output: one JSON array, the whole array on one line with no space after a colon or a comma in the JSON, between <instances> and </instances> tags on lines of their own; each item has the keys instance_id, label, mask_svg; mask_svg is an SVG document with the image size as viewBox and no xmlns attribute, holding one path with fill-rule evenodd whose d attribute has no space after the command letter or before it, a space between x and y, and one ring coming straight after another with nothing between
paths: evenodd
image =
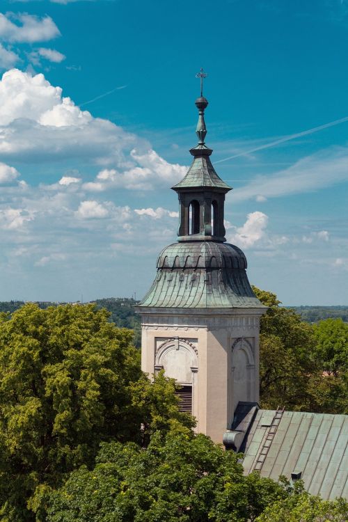
<instances>
[{"instance_id":1,"label":"tower's entire green copper top, from bell-shaped dome through lantern to spire","mask_svg":"<svg viewBox=\"0 0 348 522\"><path fill-rule=\"evenodd\" d=\"M264 308L248 282L244 253L224 237L230 187L216 174L212 149L205 145L207 105L201 90L193 163L173 187L179 198L178 242L159 254L157 276L139 308Z\"/></svg>"}]
</instances>

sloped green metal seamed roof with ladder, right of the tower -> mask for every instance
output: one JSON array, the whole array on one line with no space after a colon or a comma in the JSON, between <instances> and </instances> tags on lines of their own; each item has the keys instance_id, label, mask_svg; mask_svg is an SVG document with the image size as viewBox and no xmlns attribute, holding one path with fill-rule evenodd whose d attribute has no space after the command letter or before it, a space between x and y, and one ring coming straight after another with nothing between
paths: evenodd
<instances>
[{"instance_id":1,"label":"sloped green metal seamed roof with ladder, right of the tower","mask_svg":"<svg viewBox=\"0 0 348 522\"><path fill-rule=\"evenodd\" d=\"M256 466L276 414L259 410L246 437L244 471ZM285 411L260 474L278 480L301 472L306 490L325 500L348 498L348 416Z\"/></svg>"}]
</instances>

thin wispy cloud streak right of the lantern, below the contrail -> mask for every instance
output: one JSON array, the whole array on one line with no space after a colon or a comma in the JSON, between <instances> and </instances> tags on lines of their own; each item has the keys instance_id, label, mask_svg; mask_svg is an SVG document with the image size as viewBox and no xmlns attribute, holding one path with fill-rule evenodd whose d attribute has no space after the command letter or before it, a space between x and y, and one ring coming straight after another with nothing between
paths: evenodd
<instances>
[{"instance_id":1,"label":"thin wispy cloud streak right of the lantern, below the contrail","mask_svg":"<svg viewBox=\"0 0 348 522\"><path fill-rule=\"evenodd\" d=\"M283 171L258 175L240 189L235 201L277 198L290 194L316 191L348 180L348 149L331 148L305 157Z\"/></svg>"}]
</instances>

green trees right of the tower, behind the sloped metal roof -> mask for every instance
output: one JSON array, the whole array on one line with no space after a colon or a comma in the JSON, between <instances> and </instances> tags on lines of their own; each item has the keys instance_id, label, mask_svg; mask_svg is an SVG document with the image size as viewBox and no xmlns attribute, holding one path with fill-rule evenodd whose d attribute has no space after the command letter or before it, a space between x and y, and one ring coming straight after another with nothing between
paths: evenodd
<instances>
[{"instance_id":1,"label":"green trees right of the tower, behind the sloped metal roof","mask_svg":"<svg viewBox=\"0 0 348 522\"><path fill-rule=\"evenodd\" d=\"M275 294L253 290L269 306L260 321L262 407L347 413L348 325L326 319L312 326Z\"/></svg>"}]
</instances>

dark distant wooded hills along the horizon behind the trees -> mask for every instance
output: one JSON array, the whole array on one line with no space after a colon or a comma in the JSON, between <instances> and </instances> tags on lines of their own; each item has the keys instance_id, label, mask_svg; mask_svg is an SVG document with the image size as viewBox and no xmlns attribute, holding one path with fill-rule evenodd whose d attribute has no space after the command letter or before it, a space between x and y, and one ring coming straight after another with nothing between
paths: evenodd
<instances>
[{"instance_id":1,"label":"dark distant wooded hills along the horizon behind the trees","mask_svg":"<svg viewBox=\"0 0 348 522\"><path fill-rule=\"evenodd\" d=\"M40 308L48 306L58 306L59 304L51 301L35 301ZM134 311L139 301L128 299L127 297L108 297L91 301L97 308L106 308L111 313L111 321L120 328L130 328L134 330L134 345L141 346L141 320ZM0 301L0 312L13 313L17 308L24 305L24 301ZM348 306L287 306L299 313L303 321L316 323L322 319L338 318L348 322Z\"/></svg>"}]
</instances>

